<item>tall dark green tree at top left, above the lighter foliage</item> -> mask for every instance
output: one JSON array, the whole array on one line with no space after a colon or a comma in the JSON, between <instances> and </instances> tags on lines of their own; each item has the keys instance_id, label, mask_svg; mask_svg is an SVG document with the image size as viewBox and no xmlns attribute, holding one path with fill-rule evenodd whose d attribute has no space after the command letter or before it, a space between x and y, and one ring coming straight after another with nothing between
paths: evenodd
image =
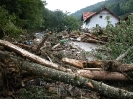
<instances>
[{"instance_id":1,"label":"tall dark green tree at top left, above the lighter foliage","mask_svg":"<svg viewBox=\"0 0 133 99\"><path fill-rule=\"evenodd\" d=\"M41 0L1 0L3 6L10 14L16 15L16 25L24 29L37 29L43 23Z\"/></svg>"}]
</instances>

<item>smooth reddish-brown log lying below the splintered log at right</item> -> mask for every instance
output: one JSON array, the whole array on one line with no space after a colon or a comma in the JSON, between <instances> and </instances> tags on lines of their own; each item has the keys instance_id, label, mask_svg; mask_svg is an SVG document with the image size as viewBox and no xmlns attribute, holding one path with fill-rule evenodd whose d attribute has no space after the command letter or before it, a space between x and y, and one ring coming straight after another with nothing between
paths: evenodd
<instances>
[{"instance_id":1,"label":"smooth reddish-brown log lying below the splintered log at right","mask_svg":"<svg viewBox=\"0 0 133 99\"><path fill-rule=\"evenodd\" d=\"M77 74L95 80L129 80L119 72L77 70Z\"/></svg>"}]
</instances>

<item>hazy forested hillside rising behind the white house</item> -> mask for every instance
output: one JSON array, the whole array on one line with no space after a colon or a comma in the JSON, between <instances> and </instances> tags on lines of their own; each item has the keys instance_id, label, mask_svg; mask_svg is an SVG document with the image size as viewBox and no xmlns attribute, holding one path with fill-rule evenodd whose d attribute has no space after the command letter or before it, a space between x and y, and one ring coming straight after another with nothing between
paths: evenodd
<instances>
[{"instance_id":1,"label":"hazy forested hillside rising behind the white house","mask_svg":"<svg viewBox=\"0 0 133 99\"><path fill-rule=\"evenodd\" d=\"M97 12L101 7L105 6L119 17L123 17L133 11L132 5L133 0L105 0L80 9L71 15L80 21L83 12Z\"/></svg>"}]
</instances>

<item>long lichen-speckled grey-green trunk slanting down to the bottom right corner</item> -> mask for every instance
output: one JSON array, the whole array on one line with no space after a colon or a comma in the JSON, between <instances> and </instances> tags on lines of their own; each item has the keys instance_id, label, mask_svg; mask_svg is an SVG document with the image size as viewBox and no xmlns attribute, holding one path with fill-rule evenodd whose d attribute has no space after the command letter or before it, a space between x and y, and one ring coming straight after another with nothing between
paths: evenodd
<instances>
[{"instance_id":1,"label":"long lichen-speckled grey-green trunk slanting down to the bottom right corner","mask_svg":"<svg viewBox=\"0 0 133 99\"><path fill-rule=\"evenodd\" d=\"M1 54L2 53L0 53L0 55ZM7 55L9 56L10 54L7 54ZM8 59L9 58L11 58L12 61L15 61L16 64L18 64L20 70L25 70L37 76L47 77L52 80L61 81L67 84L72 84L80 88L87 88L87 89L92 88L93 90L96 90L108 97L133 99L133 92L111 87L102 82L97 82L91 79L78 76L77 74L69 74L69 73L58 71L52 68L44 67L37 63L31 63L26 60L18 59L15 56L13 57L10 56L8 57Z\"/></svg>"}]
</instances>

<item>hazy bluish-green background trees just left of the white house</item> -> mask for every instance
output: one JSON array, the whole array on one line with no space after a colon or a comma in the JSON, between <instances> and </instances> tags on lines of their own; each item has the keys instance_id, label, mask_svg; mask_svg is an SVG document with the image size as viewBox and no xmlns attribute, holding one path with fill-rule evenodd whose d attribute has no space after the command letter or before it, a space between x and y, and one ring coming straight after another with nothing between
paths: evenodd
<instances>
[{"instance_id":1,"label":"hazy bluish-green background trees just left of the white house","mask_svg":"<svg viewBox=\"0 0 133 99\"><path fill-rule=\"evenodd\" d=\"M48 9L44 9L43 18L45 20L45 28L51 31L59 32L66 28L71 30L79 28L78 20L75 17L69 16L60 10L49 11Z\"/></svg>"}]
</instances>

